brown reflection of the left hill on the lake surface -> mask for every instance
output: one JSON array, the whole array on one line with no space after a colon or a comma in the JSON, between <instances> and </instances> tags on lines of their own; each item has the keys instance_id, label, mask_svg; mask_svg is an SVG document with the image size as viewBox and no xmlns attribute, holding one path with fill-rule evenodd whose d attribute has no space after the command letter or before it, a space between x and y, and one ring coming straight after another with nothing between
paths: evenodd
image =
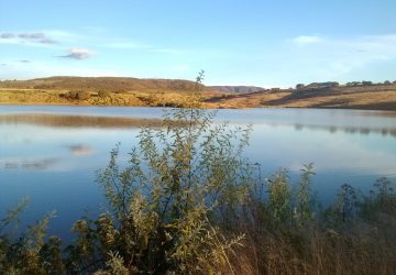
<instances>
[{"instance_id":1,"label":"brown reflection of the left hill on the lake surface","mask_svg":"<svg viewBox=\"0 0 396 275\"><path fill-rule=\"evenodd\" d=\"M34 124L50 128L140 128L143 125L158 127L156 119L112 118L94 116L16 113L0 114L0 124Z\"/></svg>"}]
</instances>

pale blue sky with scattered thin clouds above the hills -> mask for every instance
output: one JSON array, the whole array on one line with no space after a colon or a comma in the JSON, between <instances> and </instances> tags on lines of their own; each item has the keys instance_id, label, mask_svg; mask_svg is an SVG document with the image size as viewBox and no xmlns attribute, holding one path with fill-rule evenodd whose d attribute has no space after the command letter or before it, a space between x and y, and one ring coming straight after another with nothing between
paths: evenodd
<instances>
[{"instance_id":1,"label":"pale blue sky with scattered thin clouds above the hills","mask_svg":"<svg viewBox=\"0 0 396 275\"><path fill-rule=\"evenodd\" d=\"M0 0L0 79L396 80L395 0Z\"/></svg>"}]
</instances>

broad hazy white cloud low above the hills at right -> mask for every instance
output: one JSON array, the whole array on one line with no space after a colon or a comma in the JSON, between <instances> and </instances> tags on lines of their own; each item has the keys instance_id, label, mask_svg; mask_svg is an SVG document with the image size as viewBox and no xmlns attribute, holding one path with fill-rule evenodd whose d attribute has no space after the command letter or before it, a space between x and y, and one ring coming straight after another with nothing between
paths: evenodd
<instances>
[{"instance_id":1,"label":"broad hazy white cloud low above the hills at right","mask_svg":"<svg viewBox=\"0 0 396 275\"><path fill-rule=\"evenodd\" d=\"M288 40L271 58L277 59L277 72L296 79L351 80L354 72L396 61L396 34L326 38L301 35Z\"/></svg>"}]
</instances>

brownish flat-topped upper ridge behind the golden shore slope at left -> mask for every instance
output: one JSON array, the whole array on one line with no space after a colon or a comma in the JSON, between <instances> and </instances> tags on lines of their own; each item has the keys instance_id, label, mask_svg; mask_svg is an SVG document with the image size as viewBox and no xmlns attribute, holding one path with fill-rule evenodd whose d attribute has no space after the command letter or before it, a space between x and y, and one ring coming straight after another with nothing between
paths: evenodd
<instances>
[{"instance_id":1,"label":"brownish flat-topped upper ridge behind the golden shore slope at left","mask_svg":"<svg viewBox=\"0 0 396 275\"><path fill-rule=\"evenodd\" d=\"M202 86L204 87L204 86ZM56 76L31 80L0 81L0 88L44 89L44 90L87 90L87 91L154 91L195 90L196 84L179 79L139 79L130 77L68 77Z\"/></svg>"}]
</instances>

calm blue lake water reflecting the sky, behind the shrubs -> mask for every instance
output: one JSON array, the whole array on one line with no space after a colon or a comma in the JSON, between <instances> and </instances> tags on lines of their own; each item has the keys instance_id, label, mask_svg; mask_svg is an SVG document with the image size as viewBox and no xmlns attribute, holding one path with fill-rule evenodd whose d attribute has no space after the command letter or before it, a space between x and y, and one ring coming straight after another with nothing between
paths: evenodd
<instances>
[{"instance_id":1,"label":"calm blue lake water reflecting the sky, behind the shrubs","mask_svg":"<svg viewBox=\"0 0 396 275\"><path fill-rule=\"evenodd\" d=\"M111 148L121 142L127 157L141 119L155 123L161 114L156 108L0 107L0 209L29 197L23 221L56 210L51 232L69 238L73 221L105 204L95 172ZM295 182L302 164L315 163L324 202L344 183L367 190L381 176L396 179L396 112L220 110L217 121L223 120L253 124L246 154L264 176L283 167Z\"/></svg>"}]
</instances>

